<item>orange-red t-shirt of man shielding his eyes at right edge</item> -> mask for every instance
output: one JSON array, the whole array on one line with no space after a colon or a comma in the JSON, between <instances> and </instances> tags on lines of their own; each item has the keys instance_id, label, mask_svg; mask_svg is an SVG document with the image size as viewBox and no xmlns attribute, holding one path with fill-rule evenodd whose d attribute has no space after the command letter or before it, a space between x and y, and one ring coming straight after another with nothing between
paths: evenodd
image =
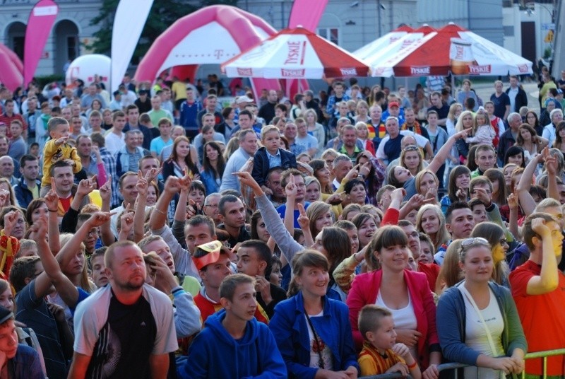
<instances>
[{"instance_id":1,"label":"orange-red t-shirt of man shielding his eyes at right edge","mask_svg":"<svg viewBox=\"0 0 565 379\"><path fill-rule=\"evenodd\" d=\"M559 284L550 293L526 293L528 281L540 275L541 269L539 264L528 260L511 272L509 277L512 296L528 341L528 352L563 349L565 346L565 275L559 272ZM527 359L525 372L542 375L542 359ZM565 356L547 359L547 375L565 375Z\"/></svg>"}]
</instances>

